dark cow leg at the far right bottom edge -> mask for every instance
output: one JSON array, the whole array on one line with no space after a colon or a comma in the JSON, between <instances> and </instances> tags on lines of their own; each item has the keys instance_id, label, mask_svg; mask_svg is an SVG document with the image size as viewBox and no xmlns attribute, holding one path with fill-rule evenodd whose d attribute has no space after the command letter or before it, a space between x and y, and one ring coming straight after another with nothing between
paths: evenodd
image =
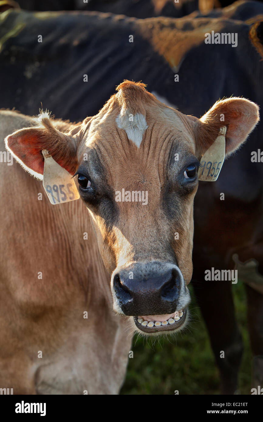
<instances>
[{"instance_id":1,"label":"dark cow leg at the far right bottom edge","mask_svg":"<svg viewBox=\"0 0 263 422\"><path fill-rule=\"evenodd\" d=\"M254 358L252 361L252 387L263 387L263 295L247 284L247 319L249 338Z\"/></svg>"}]
</instances>

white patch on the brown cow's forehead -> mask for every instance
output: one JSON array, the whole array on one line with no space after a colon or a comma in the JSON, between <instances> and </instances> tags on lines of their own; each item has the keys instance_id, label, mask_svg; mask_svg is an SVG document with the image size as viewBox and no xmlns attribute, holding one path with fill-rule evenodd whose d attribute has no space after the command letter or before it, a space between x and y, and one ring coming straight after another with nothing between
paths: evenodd
<instances>
[{"instance_id":1,"label":"white patch on the brown cow's forehead","mask_svg":"<svg viewBox=\"0 0 263 422\"><path fill-rule=\"evenodd\" d=\"M132 114L122 107L116 123L120 129L125 130L130 141L134 142L139 148L144 131L148 127L144 115L141 113Z\"/></svg>"}]
</instances>

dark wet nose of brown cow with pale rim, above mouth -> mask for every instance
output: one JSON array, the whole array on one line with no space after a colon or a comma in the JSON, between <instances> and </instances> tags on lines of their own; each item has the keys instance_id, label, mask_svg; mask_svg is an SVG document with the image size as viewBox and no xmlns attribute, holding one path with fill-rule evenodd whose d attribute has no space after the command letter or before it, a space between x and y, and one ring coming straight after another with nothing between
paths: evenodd
<instances>
[{"instance_id":1,"label":"dark wet nose of brown cow with pale rim, above mouth","mask_svg":"<svg viewBox=\"0 0 263 422\"><path fill-rule=\"evenodd\" d=\"M114 274L113 289L126 315L161 315L176 310L184 284L181 271L176 265L150 266L133 264Z\"/></svg>"}]
</instances>

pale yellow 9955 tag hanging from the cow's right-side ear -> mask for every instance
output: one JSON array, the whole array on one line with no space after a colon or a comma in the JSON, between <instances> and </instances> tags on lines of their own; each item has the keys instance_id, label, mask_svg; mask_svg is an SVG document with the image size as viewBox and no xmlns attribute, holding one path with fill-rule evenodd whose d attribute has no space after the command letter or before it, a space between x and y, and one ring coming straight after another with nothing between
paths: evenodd
<instances>
[{"instance_id":1,"label":"pale yellow 9955 tag hanging from the cow's right-side ear","mask_svg":"<svg viewBox=\"0 0 263 422\"><path fill-rule=\"evenodd\" d=\"M217 139L203 154L198 170L198 180L214 182L217 180L225 160L226 126L220 127Z\"/></svg>"}]
</instances>

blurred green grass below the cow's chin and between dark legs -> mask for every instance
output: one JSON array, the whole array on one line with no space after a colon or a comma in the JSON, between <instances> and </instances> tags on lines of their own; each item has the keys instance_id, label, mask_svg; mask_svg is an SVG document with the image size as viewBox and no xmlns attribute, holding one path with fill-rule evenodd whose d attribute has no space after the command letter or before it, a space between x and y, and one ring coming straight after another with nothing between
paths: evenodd
<instances>
[{"instance_id":1,"label":"blurred green grass below the cow's chin and between dark legs","mask_svg":"<svg viewBox=\"0 0 263 422\"><path fill-rule=\"evenodd\" d=\"M190 287L190 286L189 286ZM232 286L236 318L241 330L244 353L239 371L240 394L251 394L251 358L247 331L245 289L242 283ZM133 358L120 394L220 394L219 373L211 351L209 337L190 287L192 322L176 337L152 340L135 335Z\"/></svg>"}]
</instances>

